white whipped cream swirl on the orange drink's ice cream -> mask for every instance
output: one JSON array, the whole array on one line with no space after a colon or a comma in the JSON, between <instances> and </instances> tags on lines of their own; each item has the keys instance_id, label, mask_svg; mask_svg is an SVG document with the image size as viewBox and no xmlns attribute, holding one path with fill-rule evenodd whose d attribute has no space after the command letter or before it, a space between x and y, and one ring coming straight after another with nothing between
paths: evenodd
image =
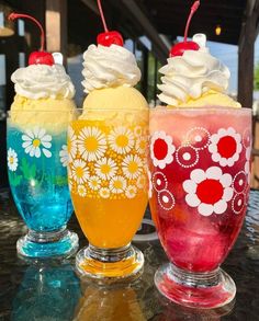
<instances>
[{"instance_id":1,"label":"white whipped cream swirl on the orange drink's ice cream","mask_svg":"<svg viewBox=\"0 0 259 321\"><path fill-rule=\"evenodd\" d=\"M140 80L140 70L134 55L126 48L111 45L90 45L83 54L85 92L111 87L134 87Z\"/></svg>"}]
</instances>

